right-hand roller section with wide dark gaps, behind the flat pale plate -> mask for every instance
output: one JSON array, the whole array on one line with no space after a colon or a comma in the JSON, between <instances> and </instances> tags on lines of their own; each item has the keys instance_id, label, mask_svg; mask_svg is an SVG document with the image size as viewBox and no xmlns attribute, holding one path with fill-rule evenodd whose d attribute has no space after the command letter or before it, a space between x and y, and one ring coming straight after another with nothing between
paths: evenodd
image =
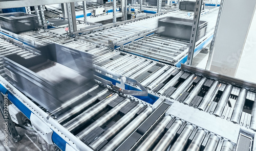
<instances>
[{"instance_id":1,"label":"right-hand roller section with wide dark gaps, behind the flat pale plate","mask_svg":"<svg viewBox=\"0 0 256 151\"><path fill-rule=\"evenodd\" d=\"M166 79L151 90L245 128L254 129L255 92L181 70L169 74Z\"/></svg>"}]
</instances>

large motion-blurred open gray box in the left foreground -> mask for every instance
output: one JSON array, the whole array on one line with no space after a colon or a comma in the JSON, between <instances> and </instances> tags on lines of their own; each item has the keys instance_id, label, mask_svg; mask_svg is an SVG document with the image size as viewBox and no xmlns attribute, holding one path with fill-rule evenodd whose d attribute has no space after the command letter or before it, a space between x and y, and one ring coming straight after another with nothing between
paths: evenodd
<instances>
[{"instance_id":1,"label":"large motion-blurred open gray box in the left foreground","mask_svg":"<svg viewBox=\"0 0 256 151\"><path fill-rule=\"evenodd\" d=\"M12 54L3 60L10 83L49 111L81 94L93 81L91 54L58 44L38 50L41 55L29 59Z\"/></svg>"}]
</instances>

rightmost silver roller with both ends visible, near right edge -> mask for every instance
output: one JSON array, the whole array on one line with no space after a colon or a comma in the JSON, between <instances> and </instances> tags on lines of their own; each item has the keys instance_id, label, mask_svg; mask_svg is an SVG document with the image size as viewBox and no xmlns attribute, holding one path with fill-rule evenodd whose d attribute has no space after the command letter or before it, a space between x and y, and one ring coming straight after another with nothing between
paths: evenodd
<instances>
[{"instance_id":1,"label":"rightmost silver roller with both ends visible, near right edge","mask_svg":"<svg viewBox=\"0 0 256 151\"><path fill-rule=\"evenodd\" d=\"M239 92L236 104L234 104L234 110L233 110L233 114L230 121L234 123L239 123L242 112L243 112L246 95L247 95L247 90L245 88L242 88Z\"/></svg>"}]
</instances>

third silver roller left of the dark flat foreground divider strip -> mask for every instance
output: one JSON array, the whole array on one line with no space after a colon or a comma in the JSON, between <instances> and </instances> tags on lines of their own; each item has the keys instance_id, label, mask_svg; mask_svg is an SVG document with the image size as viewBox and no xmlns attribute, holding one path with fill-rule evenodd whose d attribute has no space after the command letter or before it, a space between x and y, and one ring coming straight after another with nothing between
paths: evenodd
<instances>
[{"instance_id":1,"label":"third silver roller left of the dark flat foreground divider strip","mask_svg":"<svg viewBox=\"0 0 256 151\"><path fill-rule=\"evenodd\" d=\"M79 139L82 139L84 136L88 135L91 131L93 131L97 127L101 127L106 122L108 122L111 118L116 116L119 112L119 110L124 107L126 104L131 102L130 99L126 98L124 99L120 104L115 106L113 109L111 109L109 112L105 113L103 116L101 116L99 119L97 119L95 122L93 122L91 125L89 125L86 129L78 133L76 136Z\"/></svg>"}]
</instances>

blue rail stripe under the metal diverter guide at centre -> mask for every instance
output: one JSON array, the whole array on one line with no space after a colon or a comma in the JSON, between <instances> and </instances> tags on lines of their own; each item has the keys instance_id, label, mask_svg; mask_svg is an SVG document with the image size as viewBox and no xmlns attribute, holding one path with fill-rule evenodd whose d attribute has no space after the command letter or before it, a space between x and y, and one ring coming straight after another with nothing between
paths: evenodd
<instances>
[{"instance_id":1,"label":"blue rail stripe under the metal diverter guide at centre","mask_svg":"<svg viewBox=\"0 0 256 151\"><path fill-rule=\"evenodd\" d=\"M106 75L103 75L103 74L100 74L100 73L97 73L97 72L95 72L95 75L97 75L98 77L103 78L103 79L105 79L105 80L111 81L113 85L116 85L116 83L120 84L120 81L117 81L117 80L115 80L115 79L112 79L112 78L110 78L110 77L108 77L108 76L106 76ZM139 89L136 89L136 88L131 87L131 86L126 85L126 84L125 84L125 89L126 89L126 90L141 91L141 90L139 90ZM154 95L152 95L152 94L148 94L147 96L134 96L134 97L137 97L137 98L143 100L144 102L149 103L149 104L152 104L152 105L153 105L153 104L157 101L157 99L159 98L159 97L154 96Z\"/></svg>"}]
</instances>

